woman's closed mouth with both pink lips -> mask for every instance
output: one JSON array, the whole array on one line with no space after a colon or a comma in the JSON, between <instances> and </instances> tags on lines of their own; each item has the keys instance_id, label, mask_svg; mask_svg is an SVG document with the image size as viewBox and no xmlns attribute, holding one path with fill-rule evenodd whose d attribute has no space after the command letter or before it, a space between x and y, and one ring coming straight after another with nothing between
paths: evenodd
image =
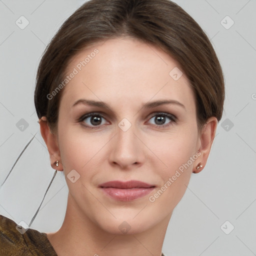
<instances>
[{"instance_id":1,"label":"woman's closed mouth with both pink lips","mask_svg":"<svg viewBox=\"0 0 256 256\"><path fill-rule=\"evenodd\" d=\"M138 180L119 181L113 180L98 186L105 195L118 201L130 201L145 196L156 186Z\"/></svg>"}]
</instances>

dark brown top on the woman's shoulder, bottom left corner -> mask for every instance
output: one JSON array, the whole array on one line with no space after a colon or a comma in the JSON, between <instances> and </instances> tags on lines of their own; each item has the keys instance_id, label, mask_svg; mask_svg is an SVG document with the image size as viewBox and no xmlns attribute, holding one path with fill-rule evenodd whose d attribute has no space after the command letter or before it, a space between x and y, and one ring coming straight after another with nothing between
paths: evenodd
<instances>
[{"instance_id":1,"label":"dark brown top on the woman's shoulder, bottom left corner","mask_svg":"<svg viewBox=\"0 0 256 256\"><path fill-rule=\"evenodd\" d=\"M57 256L57 253L46 233L31 228L25 231L13 220L0 215L0 256L21 255Z\"/></svg>"}]
</instances>

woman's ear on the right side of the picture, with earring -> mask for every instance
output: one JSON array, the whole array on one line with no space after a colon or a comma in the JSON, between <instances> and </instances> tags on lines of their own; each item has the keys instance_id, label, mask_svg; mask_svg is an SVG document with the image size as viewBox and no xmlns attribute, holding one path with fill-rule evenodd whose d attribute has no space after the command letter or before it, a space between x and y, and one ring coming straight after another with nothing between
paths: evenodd
<instances>
[{"instance_id":1,"label":"woman's ear on the right side of the picture, with earring","mask_svg":"<svg viewBox=\"0 0 256 256\"><path fill-rule=\"evenodd\" d=\"M210 148L211 148L213 139L215 137L217 123L218 123L217 118L214 116L211 116L210 118L208 118L208 120L206 121L206 123L202 128L201 133L199 134L198 144L196 148L197 148L197 151L199 151L201 154L197 158L197 160L194 162L193 172L195 173L202 170L206 164L207 158L210 153ZM200 168L200 170L198 171L196 170L196 166L199 162L203 165L203 167Z\"/></svg>"}]
</instances>

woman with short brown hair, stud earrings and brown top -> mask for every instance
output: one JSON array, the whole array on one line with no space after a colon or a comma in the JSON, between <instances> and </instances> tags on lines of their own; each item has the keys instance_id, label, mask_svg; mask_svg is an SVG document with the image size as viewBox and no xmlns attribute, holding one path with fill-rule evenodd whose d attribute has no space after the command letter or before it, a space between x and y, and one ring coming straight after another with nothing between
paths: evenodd
<instances>
[{"instance_id":1,"label":"woman with short brown hair, stud earrings and brown top","mask_svg":"<svg viewBox=\"0 0 256 256\"><path fill-rule=\"evenodd\" d=\"M223 100L210 41L177 4L83 4L47 46L34 93L51 166L69 189L65 218L40 233L1 216L1 255L163 255Z\"/></svg>"}]
</instances>

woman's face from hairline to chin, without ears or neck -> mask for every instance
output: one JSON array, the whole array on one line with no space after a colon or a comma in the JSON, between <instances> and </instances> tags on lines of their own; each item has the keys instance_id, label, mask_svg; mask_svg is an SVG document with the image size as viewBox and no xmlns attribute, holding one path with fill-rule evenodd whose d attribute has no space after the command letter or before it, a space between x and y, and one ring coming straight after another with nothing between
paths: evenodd
<instances>
[{"instance_id":1,"label":"woman's face from hairline to chin, without ears or neck","mask_svg":"<svg viewBox=\"0 0 256 256\"><path fill-rule=\"evenodd\" d=\"M195 99L181 71L161 49L129 37L72 58L57 126L71 211L110 233L169 219L200 160ZM154 187L100 187L113 180Z\"/></svg>"}]
</instances>

